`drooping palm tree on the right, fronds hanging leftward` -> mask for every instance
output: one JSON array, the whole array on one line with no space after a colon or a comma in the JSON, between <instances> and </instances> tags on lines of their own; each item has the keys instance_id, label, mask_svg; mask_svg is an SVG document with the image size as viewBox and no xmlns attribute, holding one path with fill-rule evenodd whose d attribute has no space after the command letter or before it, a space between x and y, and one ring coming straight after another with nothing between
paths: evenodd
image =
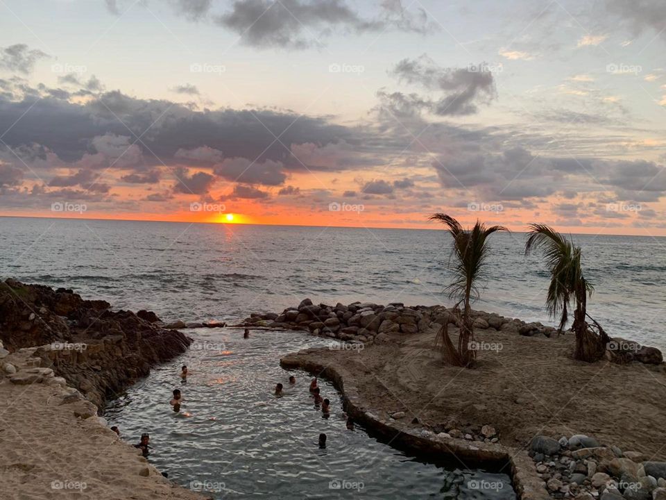
<instances>
[{"instance_id":1,"label":"drooping palm tree on the right, fronds hanging leftward","mask_svg":"<svg viewBox=\"0 0 666 500\"><path fill-rule=\"evenodd\" d=\"M525 242L525 255L540 249L551 274L546 294L546 308L551 317L560 316L558 331L562 332L569 319L572 301L575 302L572 330L576 335L574 358L592 363L606 352L608 335L601 325L587 313L587 298L594 288L583 276L581 248L545 224L530 224L531 231ZM593 325L586 322L592 320Z\"/></svg>"}]
</instances>

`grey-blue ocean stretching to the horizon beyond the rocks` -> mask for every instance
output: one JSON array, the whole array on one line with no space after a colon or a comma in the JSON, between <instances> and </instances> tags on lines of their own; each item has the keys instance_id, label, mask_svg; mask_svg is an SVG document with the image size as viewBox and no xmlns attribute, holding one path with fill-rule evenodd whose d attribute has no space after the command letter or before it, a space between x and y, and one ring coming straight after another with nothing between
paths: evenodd
<instances>
[{"instance_id":1,"label":"grey-blue ocean stretching to the horizon beyond the rocks","mask_svg":"<svg viewBox=\"0 0 666 500\"><path fill-rule=\"evenodd\" d=\"M436 226L434 226L436 228ZM233 322L315 303L450 304L445 231L0 217L0 273L162 319ZM524 233L498 233L477 309L554 325ZM666 238L574 235L609 335L666 349Z\"/></svg>"}]
</instances>

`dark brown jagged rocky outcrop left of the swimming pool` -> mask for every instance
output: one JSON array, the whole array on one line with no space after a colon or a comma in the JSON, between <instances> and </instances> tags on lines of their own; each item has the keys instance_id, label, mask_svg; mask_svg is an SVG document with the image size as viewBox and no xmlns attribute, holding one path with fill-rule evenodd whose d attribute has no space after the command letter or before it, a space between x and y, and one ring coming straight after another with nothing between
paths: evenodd
<instances>
[{"instance_id":1,"label":"dark brown jagged rocky outcrop left of the swimming pool","mask_svg":"<svg viewBox=\"0 0 666 500\"><path fill-rule=\"evenodd\" d=\"M112 311L108 302L83 300L71 290L12 279L0 283L0 339L6 349L40 346L33 356L41 366L99 408L151 367L185 352L191 339L160 324L155 313Z\"/></svg>"}]
</instances>

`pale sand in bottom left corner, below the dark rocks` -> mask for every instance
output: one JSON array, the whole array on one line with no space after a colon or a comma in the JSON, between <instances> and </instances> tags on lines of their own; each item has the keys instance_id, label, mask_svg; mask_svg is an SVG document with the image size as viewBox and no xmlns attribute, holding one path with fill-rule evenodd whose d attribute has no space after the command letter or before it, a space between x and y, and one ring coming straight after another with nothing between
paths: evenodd
<instances>
[{"instance_id":1,"label":"pale sand in bottom left corner, below the dark rocks","mask_svg":"<svg viewBox=\"0 0 666 500\"><path fill-rule=\"evenodd\" d=\"M22 365L26 353L0 361ZM2 376L2 375L0 375ZM10 499L201 500L174 485L96 417L92 403L63 403L63 379L15 385L0 380L0 497ZM85 487L84 487L85 486Z\"/></svg>"}]
</instances>

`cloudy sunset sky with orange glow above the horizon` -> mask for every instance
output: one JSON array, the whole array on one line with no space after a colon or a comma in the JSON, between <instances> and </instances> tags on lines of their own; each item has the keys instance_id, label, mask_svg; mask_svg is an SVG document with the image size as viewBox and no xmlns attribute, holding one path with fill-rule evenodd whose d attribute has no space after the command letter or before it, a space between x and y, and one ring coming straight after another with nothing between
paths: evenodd
<instances>
[{"instance_id":1,"label":"cloudy sunset sky with orange glow above the horizon","mask_svg":"<svg viewBox=\"0 0 666 500\"><path fill-rule=\"evenodd\" d=\"M666 235L663 0L0 0L0 215Z\"/></svg>"}]
</instances>

